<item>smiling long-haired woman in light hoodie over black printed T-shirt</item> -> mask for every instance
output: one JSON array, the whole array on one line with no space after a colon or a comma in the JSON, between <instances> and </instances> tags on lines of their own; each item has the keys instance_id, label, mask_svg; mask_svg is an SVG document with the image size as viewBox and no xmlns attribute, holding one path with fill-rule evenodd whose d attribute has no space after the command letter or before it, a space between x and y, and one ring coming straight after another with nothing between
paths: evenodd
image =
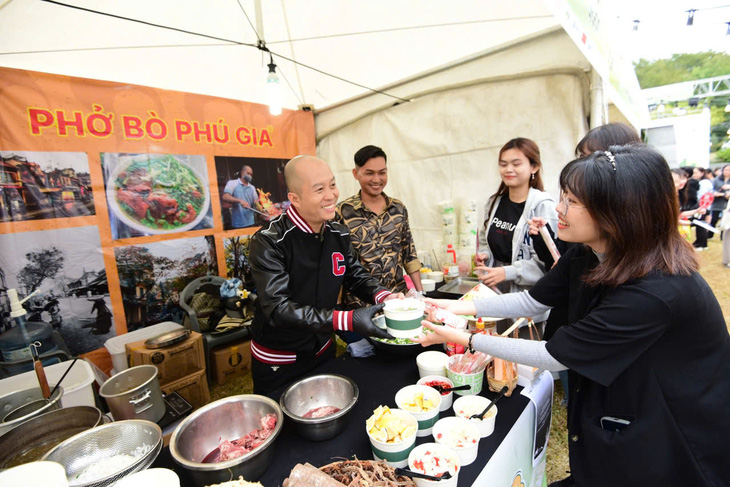
<instances>
[{"instance_id":1,"label":"smiling long-haired woman in light hoodie over black printed T-shirt","mask_svg":"<svg viewBox=\"0 0 730 487\"><path fill-rule=\"evenodd\" d=\"M528 289L546 272L527 224L541 217L556 228L555 201L543 191L541 170L540 149L530 139L512 139L499 151L502 182L485 207L475 272L502 292ZM546 318L547 313L534 316L536 322Z\"/></svg>"}]
</instances>

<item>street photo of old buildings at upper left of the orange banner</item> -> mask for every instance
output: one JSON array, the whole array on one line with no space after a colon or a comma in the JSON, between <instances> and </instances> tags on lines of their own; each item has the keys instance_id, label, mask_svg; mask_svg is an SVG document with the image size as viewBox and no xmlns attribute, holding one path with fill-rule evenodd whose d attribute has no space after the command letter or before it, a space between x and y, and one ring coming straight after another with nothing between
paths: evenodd
<instances>
[{"instance_id":1,"label":"street photo of old buildings at upper left of the orange banner","mask_svg":"<svg viewBox=\"0 0 730 487\"><path fill-rule=\"evenodd\" d=\"M0 151L0 221L94 215L83 152Z\"/></svg>"}]
</instances>

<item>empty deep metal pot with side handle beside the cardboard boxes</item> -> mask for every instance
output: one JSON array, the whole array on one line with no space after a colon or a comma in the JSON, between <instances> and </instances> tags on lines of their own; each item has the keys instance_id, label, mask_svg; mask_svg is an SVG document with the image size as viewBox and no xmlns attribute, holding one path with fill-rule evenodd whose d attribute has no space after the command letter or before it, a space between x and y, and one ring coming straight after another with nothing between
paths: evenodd
<instances>
[{"instance_id":1,"label":"empty deep metal pot with side handle beside the cardboard boxes","mask_svg":"<svg viewBox=\"0 0 730 487\"><path fill-rule=\"evenodd\" d=\"M156 423L165 415L154 365L138 365L118 373L104 382L99 395L106 399L114 421L145 419Z\"/></svg>"}]
</instances>

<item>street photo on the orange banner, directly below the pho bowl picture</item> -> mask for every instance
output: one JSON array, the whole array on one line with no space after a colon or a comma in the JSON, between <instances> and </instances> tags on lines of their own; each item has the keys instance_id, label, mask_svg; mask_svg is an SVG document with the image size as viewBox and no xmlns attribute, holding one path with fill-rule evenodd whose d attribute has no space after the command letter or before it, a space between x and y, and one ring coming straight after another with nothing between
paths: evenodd
<instances>
[{"instance_id":1,"label":"street photo on the orange banner, directly below the pho bowl picture","mask_svg":"<svg viewBox=\"0 0 730 487\"><path fill-rule=\"evenodd\" d=\"M217 275L212 236L114 249L127 330L163 321L183 322L180 293L196 277Z\"/></svg>"}]
</instances>

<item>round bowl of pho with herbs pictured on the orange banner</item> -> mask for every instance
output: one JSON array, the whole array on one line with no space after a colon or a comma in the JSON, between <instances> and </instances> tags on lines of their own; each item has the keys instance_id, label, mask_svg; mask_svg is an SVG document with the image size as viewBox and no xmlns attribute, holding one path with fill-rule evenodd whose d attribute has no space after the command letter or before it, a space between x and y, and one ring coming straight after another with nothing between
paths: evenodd
<instances>
[{"instance_id":1,"label":"round bowl of pho with herbs pictured on the orange banner","mask_svg":"<svg viewBox=\"0 0 730 487\"><path fill-rule=\"evenodd\" d=\"M120 157L106 196L117 219L150 235L192 230L210 207L207 179L169 154Z\"/></svg>"}]
</instances>

